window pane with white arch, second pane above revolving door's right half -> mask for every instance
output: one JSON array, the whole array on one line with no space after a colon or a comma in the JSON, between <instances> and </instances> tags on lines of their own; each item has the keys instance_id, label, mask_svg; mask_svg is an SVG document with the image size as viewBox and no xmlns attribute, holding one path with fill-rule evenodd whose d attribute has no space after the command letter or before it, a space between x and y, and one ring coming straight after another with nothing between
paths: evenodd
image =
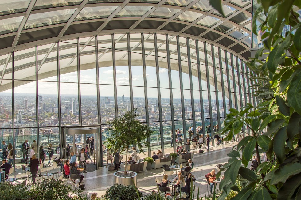
<instances>
[{"instance_id":1,"label":"window pane with white arch, second pane above revolving door's right half","mask_svg":"<svg viewBox=\"0 0 301 200\"><path fill-rule=\"evenodd\" d=\"M95 47L80 45L80 82L96 83Z\"/></svg>"}]
</instances>

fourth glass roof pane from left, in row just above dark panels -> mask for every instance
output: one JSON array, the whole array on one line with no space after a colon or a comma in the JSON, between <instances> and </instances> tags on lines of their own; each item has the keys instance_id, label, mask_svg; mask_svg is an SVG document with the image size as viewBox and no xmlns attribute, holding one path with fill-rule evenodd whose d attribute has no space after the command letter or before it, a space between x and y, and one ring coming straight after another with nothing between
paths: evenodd
<instances>
[{"instance_id":1,"label":"fourth glass roof pane from left, in row just above dark panels","mask_svg":"<svg viewBox=\"0 0 301 200\"><path fill-rule=\"evenodd\" d=\"M115 17L142 17L152 6L124 6Z\"/></svg>"}]
</instances>

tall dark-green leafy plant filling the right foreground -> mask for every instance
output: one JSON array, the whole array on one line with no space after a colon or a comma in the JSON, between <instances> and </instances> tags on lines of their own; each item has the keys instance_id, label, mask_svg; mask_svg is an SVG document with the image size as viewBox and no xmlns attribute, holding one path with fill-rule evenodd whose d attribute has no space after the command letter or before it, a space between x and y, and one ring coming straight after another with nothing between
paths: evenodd
<instances>
[{"instance_id":1,"label":"tall dark-green leafy plant filling the right foreground","mask_svg":"<svg viewBox=\"0 0 301 200\"><path fill-rule=\"evenodd\" d=\"M228 133L226 140L245 130L243 127L251 134L244 132L247 136L227 154L231 158L221 169L225 178L219 184L219 198L225 199L231 191L237 191L233 199L301 199L301 23L293 9L293 6L300 9L301 3L257 2L252 32L257 35L256 20L264 12L267 17L259 27L264 32L261 36L264 47L246 65L254 83L253 95L260 103L247 104L240 111L230 109L224 120L225 127L219 133ZM261 61L259 57L264 50L268 51L268 58ZM268 131L262 133L266 127ZM261 162L263 152L268 160ZM259 158L255 172L247 168L253 154ZM237 182L241 183L241 189Z\"/></svg>"}]
</instances>

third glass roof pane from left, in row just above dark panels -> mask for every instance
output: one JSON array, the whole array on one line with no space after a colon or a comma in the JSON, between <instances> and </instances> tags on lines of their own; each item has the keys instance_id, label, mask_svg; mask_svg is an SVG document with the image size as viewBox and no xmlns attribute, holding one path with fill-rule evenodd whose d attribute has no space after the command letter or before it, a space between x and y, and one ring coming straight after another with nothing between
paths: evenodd
<instances>
[{"instance_id":1,"label":"third glass roof pane from left, in row just above dark panels","mask_svg":"<svg viewBox=\"0 0 301 200\"><path fill-rule=\"evenodd\" d=\"M107 18L118 6L85 7L74 21Z\"/></svg>"}]
</instances>

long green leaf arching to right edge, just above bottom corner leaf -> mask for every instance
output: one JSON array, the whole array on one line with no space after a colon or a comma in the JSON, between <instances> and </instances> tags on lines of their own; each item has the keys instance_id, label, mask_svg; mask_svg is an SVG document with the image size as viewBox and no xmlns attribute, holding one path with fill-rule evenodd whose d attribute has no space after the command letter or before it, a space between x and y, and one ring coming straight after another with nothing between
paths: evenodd
<instances>
[{"instance_id":1,"label":"long green leaf arching to right edge, just above bottom corner leaf","mask_svg":"<svg viewBox=\"0 0 301 200\"><path fill-rule=\"evenodd\" d=\"M289 163L277 169L272 176L270 184L275 185L279 182L284 183L291 175L301 172L301 164L298 162Z\"/></svg>"}]
</instances>

